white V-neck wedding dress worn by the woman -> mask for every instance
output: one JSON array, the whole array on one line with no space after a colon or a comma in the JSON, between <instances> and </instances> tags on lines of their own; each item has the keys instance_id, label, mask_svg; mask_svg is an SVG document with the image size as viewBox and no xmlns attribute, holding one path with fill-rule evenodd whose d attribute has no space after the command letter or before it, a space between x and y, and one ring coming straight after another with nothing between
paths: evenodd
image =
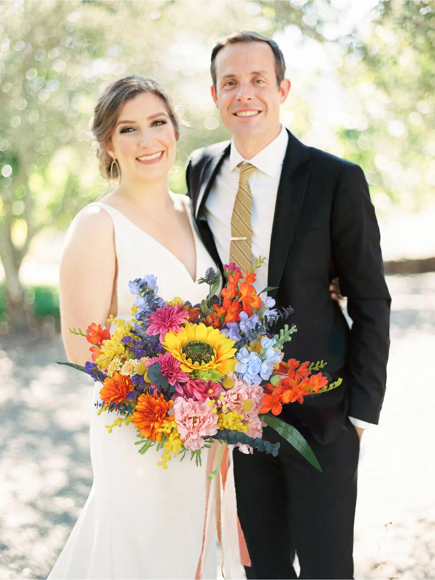
<instances>
[{"instance_id":1,"label":"white V-neck wedding dress worn by the woman","mask_svg":"<svg viewBox=\"0 0 435 580\"><path fill-rule=\"evenodd\" d=\"M195 238L199 278L208 267L216 268L216 264L195 231L189 198L184 195L177 198L186 204ZM129 292L128 282L145 274L157 276L158 294L165 300L180 296L195 304L205 298L207 285L196 284L168 249L116 209L102 203L91 205L104 208L114 225L117 318L131 320L135 296ZM95 402L99 400L100 387L99 382L95 383ZM186 454L182 462L172 458L165 470L157 465L162 451L151 448L144 455L138 453L133 425L107 432L105 426L114 418L107 413L97 415L95 407L92 408L92 490L49 579L195 578L203 543L208 451L202 453L202 467L196 467L189 461L190 454ZM215 509L208 511L213 512L214 518ZM208 524L208 549L202 556L201 578L216 578L217 543L210 537L215 529L213 520Z\"/></svg>"}]
</instances>

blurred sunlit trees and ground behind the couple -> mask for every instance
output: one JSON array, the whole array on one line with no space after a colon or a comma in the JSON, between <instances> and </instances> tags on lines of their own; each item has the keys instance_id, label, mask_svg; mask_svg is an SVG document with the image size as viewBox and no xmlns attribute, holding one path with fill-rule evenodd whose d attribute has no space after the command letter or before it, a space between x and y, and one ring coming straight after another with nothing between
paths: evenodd
<instances>
[{"instance_id":1,"label":"blurred sunlit trees and ground behind the couple","mask_svg":"<svg viewBox=\"0 0 435 580\"><path fill-rule=\"evenodd\" d=\"M191 151L228 138L211 49L243 29L284 53L282 123L362 166L380 224L389 388L364 434L356 577L435 577L434 380L420 362L435 351L434 14L433 1L0 2L2 578L45 578L92 483L89 383L55 362L64 234L110 187L88 130L97 97L129 73L169 89L188 122L170 179L184 193Z\"/></svg>"}]
</instances>

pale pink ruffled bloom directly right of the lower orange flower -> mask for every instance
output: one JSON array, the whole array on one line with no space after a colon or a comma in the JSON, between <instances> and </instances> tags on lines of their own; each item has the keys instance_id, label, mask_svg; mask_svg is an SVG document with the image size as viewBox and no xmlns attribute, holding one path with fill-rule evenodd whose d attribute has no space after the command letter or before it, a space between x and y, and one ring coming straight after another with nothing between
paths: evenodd
<instances>
[{"instance_id":1,"label":"pale pink ruffled bloom directly right of the lower orange flower","mask_svg":"<svg viewBox=\"0 0 435 580\"><path fill-rule=\"evenodd\" d=\"M208 404L177 397L173 409L177 430L187 449L201 449L205 443L204 437L218 433L218 414L213 413Z\"/></svg>"}]
</instances>

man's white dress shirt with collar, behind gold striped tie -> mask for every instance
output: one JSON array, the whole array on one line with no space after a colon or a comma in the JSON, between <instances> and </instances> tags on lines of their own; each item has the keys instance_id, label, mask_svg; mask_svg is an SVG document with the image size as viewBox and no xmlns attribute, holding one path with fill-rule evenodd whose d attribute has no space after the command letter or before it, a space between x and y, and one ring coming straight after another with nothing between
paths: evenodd
<instances>
[{"instance_id":1,"label":"man's white dress shirt with collar, behind gold striped tie","mask_svg":"<svg viewBox=\"0 0 435 580\"><path fill-rule=\"evenodd\" d=\"M249 160L237 151L234 140L231 139L229 157L224 160L215 183L205 201L205 218L212 231L218 249L219 258L223 264L230 261L231 217L239 182L240 163L250 163L255 166L248 179L252 194L252 262L259 256L266 258L262 266L256 270L256 281L253 284L260 292L267 287L267 271L269 270L270 240L273 218L280 184L282 162L288 145L288 133L281 126L280 134L269 145L264 147ZM265 298L265 295L262 295ZM356 427L367 429L370 423L349 417Z\"/></svg>"}]
</instances>

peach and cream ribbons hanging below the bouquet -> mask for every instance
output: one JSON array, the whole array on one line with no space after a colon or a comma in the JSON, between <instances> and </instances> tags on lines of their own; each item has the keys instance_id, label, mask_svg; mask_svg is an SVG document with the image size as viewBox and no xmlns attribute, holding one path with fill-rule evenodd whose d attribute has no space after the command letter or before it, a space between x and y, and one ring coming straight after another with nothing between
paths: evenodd
<instances>
[{"instance_id":1,"label":"peach and cream ribbons hanging below the bouquet","mask_svg":"<svg viewBox=\"0 0 435 580\"><path fill-rule=\"evenodd\" d=\"M208 451L206 474L213 470L213 464L217 461L220 454L220 443L216 441ZM216 460L216 461L215 461ZM230 477L229 477L230 476ZM230 481L230 488L227 487L227 481ZM248 548L245 542L240 521L237 517L237 524L234 525L234 516L237 514L237 504L235 502L234 476L233 467L230 467L230 455L228 445L225 445L220 469L213 480L206 478L205 484L205 514L204 528L202 531L201 554L198 560L195 580L201 580L202 564L206 545L210 542L211 534L207 534L212 517L213 505L215 502L215 522L216 532L218 535L219 545L222 551L222 576L231 578L231 568L240 567L241 565L250 566ZM238 550L233 553L234 535L238 537ZM209 537L207 537L209 536ZM207 541L208 540L208 541ZM208 547L208 546L207 546ZM227 565L226 565L227 564Z\"/></svg>"}]
</instances>

